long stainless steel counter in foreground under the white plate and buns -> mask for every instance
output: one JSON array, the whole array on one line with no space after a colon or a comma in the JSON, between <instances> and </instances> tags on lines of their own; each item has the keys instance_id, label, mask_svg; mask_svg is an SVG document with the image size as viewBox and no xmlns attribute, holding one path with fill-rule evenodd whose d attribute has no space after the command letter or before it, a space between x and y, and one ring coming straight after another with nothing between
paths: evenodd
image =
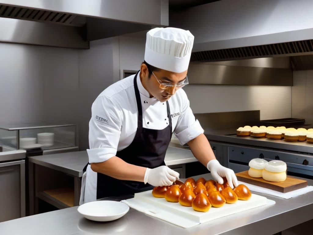
<instances>
[{"instance_id":1,"label":"long stainless steel counter in foreground under the white plate and buns","mask_svg":"<svg viewBox=\"0 0 313 235\"><path fill-rule=\"evenodd\" d=\"M210 179L210 174L199 177ZM308 180L313 185L313 180ZM134 209L112 222L93 222L77 212L77 206L0 223L2 235L11 234L275 234L313 219L313 192L291 199L256 193L276 201L245 212L184 229ZM309 234L302 233L302 234Z\"/></svg>"}]
</instances>

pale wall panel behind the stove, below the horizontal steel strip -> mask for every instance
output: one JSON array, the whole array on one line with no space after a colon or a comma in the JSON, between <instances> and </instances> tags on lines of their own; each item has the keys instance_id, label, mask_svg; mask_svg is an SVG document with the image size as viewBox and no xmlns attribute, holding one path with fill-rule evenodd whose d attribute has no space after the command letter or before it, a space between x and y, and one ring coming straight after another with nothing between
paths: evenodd
<instances>
[{"instance_id":1,"label":"pale wall panel behind the stove, below the horizontal steel strip","mask_svg":"<svg viewBox=\"0 0 313 235\"><path fill-rule=\"evenodd\" d=\"M260 118L291 117L290 86L187 85L194 113L260 110Z\"/></svg>"}]
</instances>

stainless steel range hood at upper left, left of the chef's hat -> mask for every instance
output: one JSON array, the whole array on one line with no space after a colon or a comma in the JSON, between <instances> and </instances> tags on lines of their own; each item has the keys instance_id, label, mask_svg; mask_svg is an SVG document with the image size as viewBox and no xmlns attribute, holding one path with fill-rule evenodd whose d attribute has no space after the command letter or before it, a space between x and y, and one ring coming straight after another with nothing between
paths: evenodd
<instances>
[{"instance_id":1,"label":"stainless steel range hood at upper left, left of the chef's hat","mask_svg":"<svg viewBox=\"0 0 313 235\"><path fill-rule=\"evenodd\" d=\"M168 0L0 0L0 42L86 49L167 25Z\"/></svg>"}]
</instances>

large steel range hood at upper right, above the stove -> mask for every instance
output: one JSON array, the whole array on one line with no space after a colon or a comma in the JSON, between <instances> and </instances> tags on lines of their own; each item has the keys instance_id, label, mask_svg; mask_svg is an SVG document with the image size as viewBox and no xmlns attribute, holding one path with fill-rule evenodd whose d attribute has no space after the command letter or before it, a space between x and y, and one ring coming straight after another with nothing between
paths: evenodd
<instances>
[{"instance_id":1,"label":"large steel range hood at upper right, above the stove","mask_svg":"<svg viewBox=\"0 0 313 235\"><path fill-rule=\"evenodd\" d=\"M290 57L313 69L313 1L221 0L171 14L173 27L195 35L191 61Z\"/></svg>"}]
</instances>

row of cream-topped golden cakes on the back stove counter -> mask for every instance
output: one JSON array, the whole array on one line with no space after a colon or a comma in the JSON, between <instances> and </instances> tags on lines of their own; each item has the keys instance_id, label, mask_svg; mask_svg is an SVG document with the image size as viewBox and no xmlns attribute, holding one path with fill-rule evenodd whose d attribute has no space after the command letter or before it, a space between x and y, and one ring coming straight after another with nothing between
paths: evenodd
<instances>
[{"instance_id":1,"label":"row of cream-topped golden cakes on the back stove counter","mask_svg":"<svg viewBox=\"0 0 313 235\"><path fill-rule=\"evenodd\" d=\"M237 136L255 138L284 139L285 141L306 141L313 144L313 128L286 128L273 126L244 126L237 129Z\"/></svg>"}]
</instances>

